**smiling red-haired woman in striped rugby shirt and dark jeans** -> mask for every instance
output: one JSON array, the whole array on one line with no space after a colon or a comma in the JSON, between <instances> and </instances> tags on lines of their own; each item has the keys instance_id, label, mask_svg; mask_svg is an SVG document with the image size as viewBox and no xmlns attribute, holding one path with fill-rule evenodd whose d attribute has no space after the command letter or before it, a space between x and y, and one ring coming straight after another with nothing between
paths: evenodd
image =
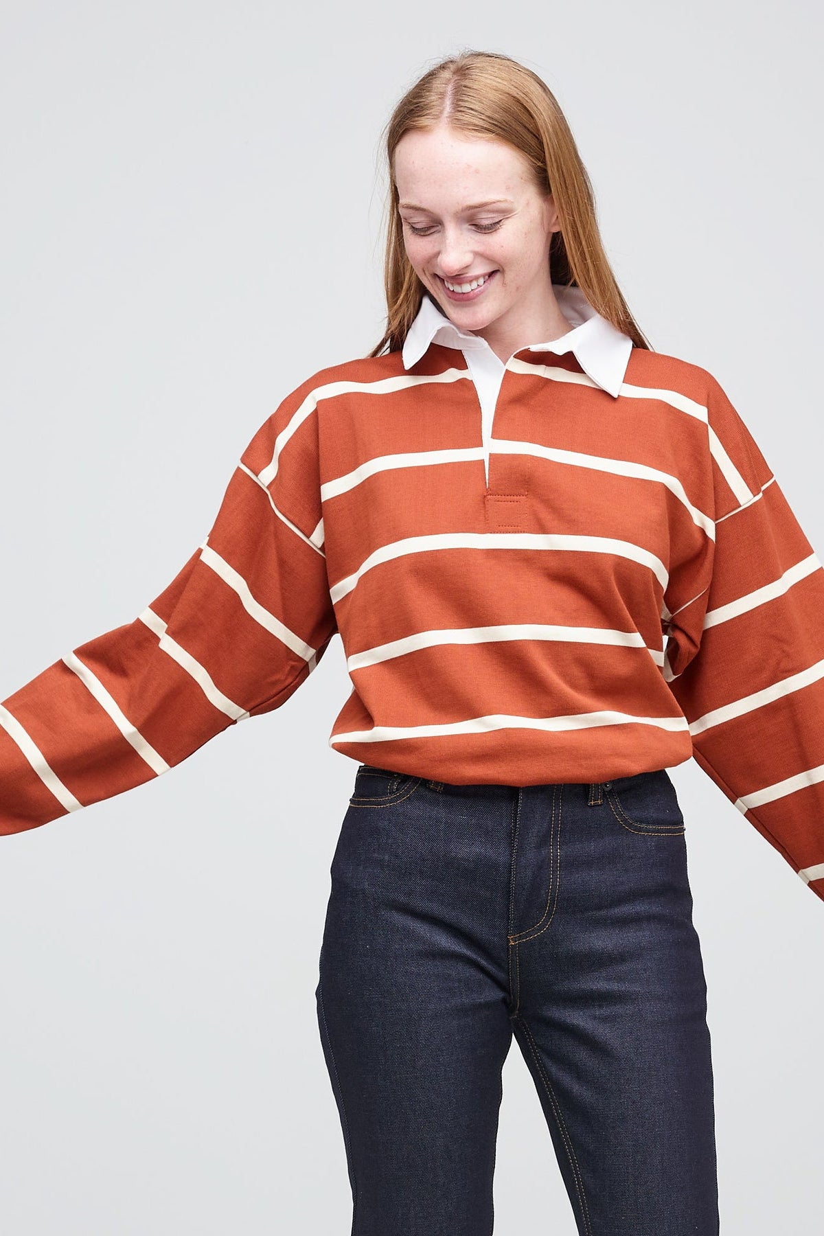
<instances>
[{"instance_id":1,"label":"smiling red-haired woman in striped rugby shirt and dark jeans","mask_svg":"<svg viewBox=\"0 0 824 1236\"><path fill-rule=\"evenodd\" d=\"M652 352L545 84L465 53L387 136L384 339L282 402L127 627L0 706L32 828L284 703L358 761L316 989L356 1236L482 1236L502 1067L578 1231L718 1232L696 755L824 896L824 572L721 387Z\"/></svg>"}]
</instances>

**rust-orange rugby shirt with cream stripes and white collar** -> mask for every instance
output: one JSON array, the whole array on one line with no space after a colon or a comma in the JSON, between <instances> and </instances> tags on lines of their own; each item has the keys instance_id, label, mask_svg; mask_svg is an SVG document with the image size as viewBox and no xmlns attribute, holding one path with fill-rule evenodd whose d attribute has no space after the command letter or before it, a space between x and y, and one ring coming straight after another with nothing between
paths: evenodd
<instances>
[{"instance_id":1,"label":"rust-orange rugby shirt with cream stripes and white collar","mask_svg":"<svg viewBox=\"0 0 824 1236\"><path fill-rule=\"evenodd\" d=\"M340 633L343 755L515 786L694 755L824 897L824 569L719 382L566 292L505 365L425 297L289 393L168 587L0 706L0 832L278 708Z\"/></svg>"}]
</instances>

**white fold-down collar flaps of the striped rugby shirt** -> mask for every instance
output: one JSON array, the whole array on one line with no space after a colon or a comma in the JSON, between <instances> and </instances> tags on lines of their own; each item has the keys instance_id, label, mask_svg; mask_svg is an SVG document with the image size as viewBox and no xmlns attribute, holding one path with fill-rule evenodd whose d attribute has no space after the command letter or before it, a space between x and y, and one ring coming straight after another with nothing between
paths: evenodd
<instances>
[{"instance_id":1,"label":"white fold-down collar flaps of the striped rugby shirt","mask_svg":"<svg viewBox=\"0 0 824 1236\"><path fill-rule=\"evenodd\" d=\"M604 391L618 397L633 351L633 340L595 313L581 288L553 283L552 290L558 308L572 323L572 330L560 339L531 344L529 351L557 355L574 352L584 373ZM404 368L409 370L416 365L432 342L445 347L457 347L461 351L469 347L489 347L481 335L458 330L446 314L441 313L429 293L424 293L418 315L404 340L401 352Z\"/></svg>"}]
</instances>

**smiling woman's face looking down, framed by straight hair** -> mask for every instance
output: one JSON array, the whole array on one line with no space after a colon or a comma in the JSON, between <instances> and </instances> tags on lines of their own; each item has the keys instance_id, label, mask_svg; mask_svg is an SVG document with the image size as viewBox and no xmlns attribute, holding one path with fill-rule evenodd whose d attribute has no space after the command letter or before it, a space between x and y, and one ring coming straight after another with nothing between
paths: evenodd
<instances>
[{"instance_id":1,"label":"smiling woman's face looking down, framed by straight hair","mask_svg":"<svg viewBox=\"0 0 824 1236\"><path fill-rule=\"evenodd\" d=\"M411 130L394 174L406 255L442 311L489 341L540 339L557 314L549 252L560 225L520 151L447 125Z\"/></svg>"}]
</instances>

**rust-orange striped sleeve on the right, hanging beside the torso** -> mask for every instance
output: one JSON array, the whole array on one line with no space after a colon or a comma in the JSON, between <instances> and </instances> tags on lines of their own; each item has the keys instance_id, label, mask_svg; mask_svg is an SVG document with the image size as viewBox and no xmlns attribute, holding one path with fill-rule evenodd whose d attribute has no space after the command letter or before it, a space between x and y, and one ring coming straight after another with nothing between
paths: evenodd
<instances>
[{"instance_id":1,"label":"rust-orange striped sleeve on the right, hanging beside the torso","mask_svg":"<svg viewBox=\"0 0 824 1236\"><path fill-rule=\"evenodd\" d=\"M714 544L665 679L697 763L824 899L824 570L714 378L707 419Z\"/></svg>"}]
</instances>

